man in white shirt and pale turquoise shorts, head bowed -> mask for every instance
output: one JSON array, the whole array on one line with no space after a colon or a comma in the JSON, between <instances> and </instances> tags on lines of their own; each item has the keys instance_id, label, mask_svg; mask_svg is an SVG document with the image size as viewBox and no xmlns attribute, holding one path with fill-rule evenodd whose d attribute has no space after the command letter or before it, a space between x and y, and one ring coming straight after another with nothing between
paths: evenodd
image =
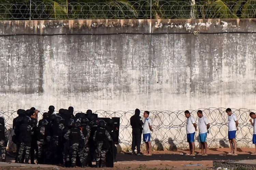
<instances>
[{"instance_id":1,"label":"man in white shirt and pale turquoise shorts, head bowed","mask_svg":"<svg viewBox=\"0 0 256 170\"><path fill-rule=\"evenodd\" d=\"M208 122L207 118L203 116L203 112L201 110L197 111L197 116L199 117L198 120L198 129L199 129L199 142L202 144L202 151L198 155L207 156L207 132L210 128L210 123ZM205 150L205 152L204 152Z\"/></svg>"}]
</instances>

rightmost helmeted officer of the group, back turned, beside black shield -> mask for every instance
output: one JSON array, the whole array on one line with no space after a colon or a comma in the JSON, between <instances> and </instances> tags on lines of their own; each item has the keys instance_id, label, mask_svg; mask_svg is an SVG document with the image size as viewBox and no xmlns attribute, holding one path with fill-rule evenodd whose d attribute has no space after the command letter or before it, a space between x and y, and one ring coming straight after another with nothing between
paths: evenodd
<instances>
[{"instance_id":1,"label":"rightmost helmeted officer of the group, back turned, beside black shield","mask_svg":"<svg viewBox=\"0 0 256 170\"><path fill-rule=\"evenodd\" d=\"M109 132L105 129L106 123L104 120L100 120L98 123L98 128L94 133L93 140L96 142L96 167L106 166L106 152L109 150L112 138Z\"/></svg>"}]
</instances>

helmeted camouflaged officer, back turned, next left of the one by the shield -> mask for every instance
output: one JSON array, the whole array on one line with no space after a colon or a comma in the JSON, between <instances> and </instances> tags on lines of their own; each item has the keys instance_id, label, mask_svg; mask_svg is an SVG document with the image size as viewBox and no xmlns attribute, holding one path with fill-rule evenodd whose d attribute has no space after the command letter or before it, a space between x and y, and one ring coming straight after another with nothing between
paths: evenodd
<instances>
[{"instance_id":1,"label":"helmeted camouflaged officer, back turned, next left of the one by the shield","mask_svg":"<svg viewBox=\"0 0 256 170\"><path fill-rule=\"evenodd\" d=\"M79 124L79 125L77 125ZM72 155L71 158L71 167L76 166L76 156L78 154L81 164L84 164L84 152L83 150L79 150L79 148L84 147L84 140L85 137L79 128L80 123L75 122L73 123L73 128L68 130L68 132L64 135L64 138L69 141L70 143L70 155ZM68 162L68 160L67 160Z\"/></svg>"}]
</instances>

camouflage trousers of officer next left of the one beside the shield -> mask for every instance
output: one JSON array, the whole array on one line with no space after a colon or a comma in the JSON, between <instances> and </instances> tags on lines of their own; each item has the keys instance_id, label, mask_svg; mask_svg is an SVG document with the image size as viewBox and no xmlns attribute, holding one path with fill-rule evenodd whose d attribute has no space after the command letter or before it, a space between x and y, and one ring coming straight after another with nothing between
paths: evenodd
<instances>
[{"instance_id":1,"label":"camouflage trousers of officer next left of the one beside the shield","mask_svg":"<svg viewBox=\"0 0 256 170\"><path fill-rule=\"evenodd\" d=\"M78 155L80 163L84 164L84 151L79 149L79 143L73 143L70 147L71 164L76 164L76 156ZM68 160L67 160L68 161Z\"/></svg>"}]
</instances>

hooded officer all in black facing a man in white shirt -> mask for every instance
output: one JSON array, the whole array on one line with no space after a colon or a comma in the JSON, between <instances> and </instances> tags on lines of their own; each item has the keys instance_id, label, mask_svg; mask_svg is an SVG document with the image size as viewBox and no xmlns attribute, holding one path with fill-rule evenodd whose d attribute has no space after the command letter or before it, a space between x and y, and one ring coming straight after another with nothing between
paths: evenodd
<instances>
[{"instance_id":1,"label":"hooded officer all in black facing a man in white shirt","mask_svg":"<svg viewBox=\"0 0 256 170\"><path fill-rule=\"evenodd\" d=\"M141 134L143 132L143 128L142 128L143 122L140 117L140 110L138 108L135 110L135 114L131 117L130 124L132 127L132 144L131 144L132 154L136 155L134 150L135 150L135 146L137 146L137 155L143 155L140 152Z\"/></svg>"}]
</instances>

